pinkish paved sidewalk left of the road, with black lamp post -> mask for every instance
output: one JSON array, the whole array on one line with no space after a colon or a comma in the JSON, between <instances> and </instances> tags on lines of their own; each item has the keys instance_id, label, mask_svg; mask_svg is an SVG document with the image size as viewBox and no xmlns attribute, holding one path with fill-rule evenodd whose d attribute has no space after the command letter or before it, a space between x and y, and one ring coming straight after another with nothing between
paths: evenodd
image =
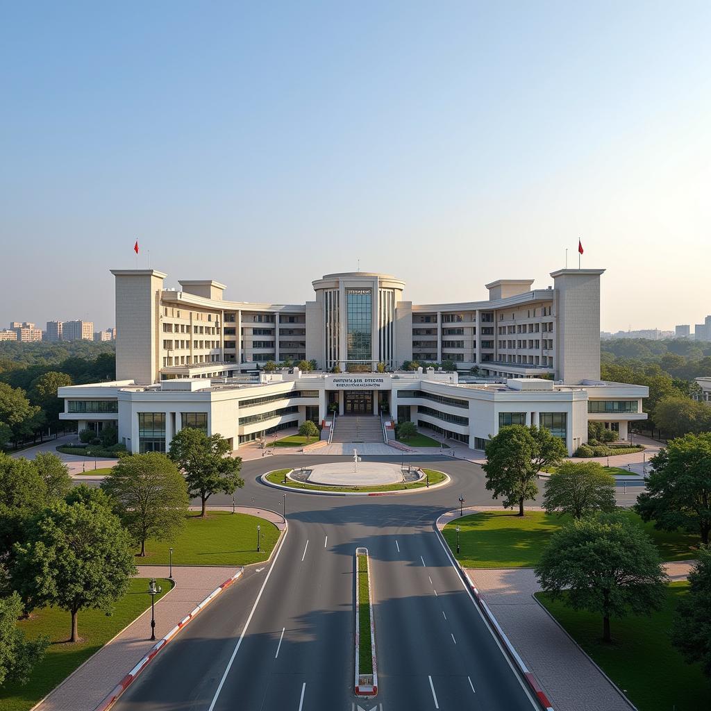
<instances>
[{"instance_id":1,"label":"pinkish paved sidewalk left of the road, with black lamp post","mask_svg":"<svg viewBox=\"0 0 711 711\"><path fill-rule=\"evenodd\" d=\"M140 565L137 577L168 577L165 565ZM178 624L195 606L237 572L237 567L173 565L176 586L156 602L156 639ZM147 597L147 595L146 595ZM93 711L154 646L151 642L151 608L134 620L113 641L43 700L36 711Z\"/></svg>"}]
</instances>

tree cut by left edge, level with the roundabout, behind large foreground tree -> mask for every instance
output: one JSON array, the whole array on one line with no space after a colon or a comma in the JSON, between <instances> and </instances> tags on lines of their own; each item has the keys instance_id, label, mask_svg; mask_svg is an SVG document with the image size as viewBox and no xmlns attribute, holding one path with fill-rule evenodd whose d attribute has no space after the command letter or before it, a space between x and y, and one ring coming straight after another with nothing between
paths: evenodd
<instances>
[{"instance_id":1,"label":"tree cut by left edge, level with the roundabout, behind large foreground tree","mask_svg":"<svg viewBox=\"0 0 711 711\"><path fill-rule=\"evenodd\" d=\"M13 557L13 544L47 503L47 483L33 461L0 453L0 557Z\"/></svg>"}]
</instances>

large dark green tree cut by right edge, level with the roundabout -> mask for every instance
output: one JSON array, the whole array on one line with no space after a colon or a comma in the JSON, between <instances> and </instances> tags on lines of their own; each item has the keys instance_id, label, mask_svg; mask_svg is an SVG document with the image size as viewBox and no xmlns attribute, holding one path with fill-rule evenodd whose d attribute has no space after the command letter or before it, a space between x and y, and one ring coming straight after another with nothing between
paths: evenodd
<instances>
[{"instance_id":1,"label":"large dark green tree cut by right edge, level with the roundabout","mask_svg":"<svg viewBox=\"0 0 711 711\"><path fill-rule=\"evenodd\" d=\"M711 432L672 439L651 459L636 510L654 528L683 528L708 544L711 533Z\"/></svg>"}]
</instances>

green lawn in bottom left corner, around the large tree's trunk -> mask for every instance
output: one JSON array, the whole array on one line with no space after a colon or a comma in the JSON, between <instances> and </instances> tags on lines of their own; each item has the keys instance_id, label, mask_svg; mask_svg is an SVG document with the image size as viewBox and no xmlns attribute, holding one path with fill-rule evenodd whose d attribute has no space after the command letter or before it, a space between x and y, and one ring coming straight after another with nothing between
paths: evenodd
<instances>
[{"instance_id":1,"label":"green lawn in bottom left corner, around the large tree's trunk","mask_svg":"<svg viewBox=\"0 0 711 711\"><path fill-rule=\"evenodd\" d=\"M161 595L156 595L156 602L171 589L171 582L159 579L163 588ZM8 684L0 690L0 708L3 711L27 711L43 696L55 688L80 664L98 651L109 639L114 637L127 624L136 619L141 612L151 606L151 597L146 593L148 578L134 578L129 592L114 604L113 614L107 617L105 611L87 610L79 613L80 642L68 643L71 616L68 612L47 607L33 613L31 619L22 621L20 627L30 638L45 635L52 642L47 655L33 670L25 686ZM160 607L156 614L160 614ZM151 618L146 620L146 638L151 636Z\"/></svg>"}]
</instances>

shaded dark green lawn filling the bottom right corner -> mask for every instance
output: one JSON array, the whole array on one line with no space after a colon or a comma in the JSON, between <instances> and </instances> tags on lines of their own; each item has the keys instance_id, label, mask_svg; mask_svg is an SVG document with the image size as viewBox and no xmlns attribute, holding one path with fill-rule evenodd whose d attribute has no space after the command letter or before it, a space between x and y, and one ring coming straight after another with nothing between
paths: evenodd
<instances>
[{"instance_id":1,"label":"shaded dark green lawn filling the bottom right corner","mask_svg":"<svg viewBox=\"0 0 711 711\"><path fill-rule=\"evenodd\" d=\"M687 582L673 582L661 611L651 617L613 619L611 644L602 641L601 616L575 612L543 593L535 597L639 711L699 711L711 708L711 682L699 665L685 663L669 638L673 611L687 592Z\"/></svg>"}]
</instances>

